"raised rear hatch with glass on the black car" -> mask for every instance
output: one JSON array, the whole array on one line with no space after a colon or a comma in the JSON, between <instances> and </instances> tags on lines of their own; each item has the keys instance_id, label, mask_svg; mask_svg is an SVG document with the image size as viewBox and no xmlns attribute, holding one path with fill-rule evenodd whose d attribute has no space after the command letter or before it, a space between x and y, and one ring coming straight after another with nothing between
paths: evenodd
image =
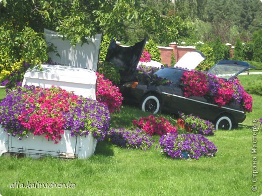
<instances>
[{"instance_id":1,"label":"raised rear hatch with glass on the black car","mask_svg":"<svg viewBox=\"0 0 262 196\"><path fill-rule=\"evenodd\" d=\"M244 61L220 60L208 71L208 73L216 75L219 78L229 80L249 68L255 67Z\"/></svg>"}]
</instances>

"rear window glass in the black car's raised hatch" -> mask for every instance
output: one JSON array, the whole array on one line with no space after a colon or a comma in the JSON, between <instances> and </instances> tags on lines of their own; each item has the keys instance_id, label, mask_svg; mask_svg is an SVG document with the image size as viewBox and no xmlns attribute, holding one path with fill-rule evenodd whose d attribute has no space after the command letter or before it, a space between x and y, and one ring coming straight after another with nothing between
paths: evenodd
<instances>
[{"instance_id":1,"label":"rear window glass in the black car's raised hatch","mask_svg":"<svg viewBox=\"0 0 262 196\"><path fill-rule=\"evenodd\" d=\"M209 73L216 75L219 78L228 79L238 72L242 71L246 66L242 65L232 65L232 64L217 64L215 65Z\"/></svg>"}]
</instances>

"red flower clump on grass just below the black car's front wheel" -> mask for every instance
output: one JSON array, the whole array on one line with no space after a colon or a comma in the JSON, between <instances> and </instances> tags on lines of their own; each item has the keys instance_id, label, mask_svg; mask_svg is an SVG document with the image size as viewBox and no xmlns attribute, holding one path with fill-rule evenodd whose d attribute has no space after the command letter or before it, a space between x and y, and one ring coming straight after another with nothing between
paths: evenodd
<instances>
[{"instance_id":1,"label":"red flower clump on grass just below the black car's front wheel","mask_svg":"<svg viewBox=\"0 0 262 196\"><path fill-rule=\"evenodd\" d=\"M133 120L133 125L137 125L145 133L150 135L163 135L167 133L177 133L177 127L170 124L169 121L163 117L142 117L138 121Z\"/></svg>"}]
</instances>

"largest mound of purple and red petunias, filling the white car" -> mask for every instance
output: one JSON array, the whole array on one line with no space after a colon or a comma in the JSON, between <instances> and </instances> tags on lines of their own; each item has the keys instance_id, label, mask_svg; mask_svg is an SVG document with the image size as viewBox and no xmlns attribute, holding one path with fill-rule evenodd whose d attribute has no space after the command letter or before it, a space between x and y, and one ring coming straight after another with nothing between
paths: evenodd
<instances>
[{"instance_id":1,"label":"largest mound of purple and red petunias, filling the white car","mask_svg":"<svg viewBox=\"0 0 262 196\"><path fill-rule=\"evenodd\" d=\"M58 87L17 86L0 104L0 124L12 136L45 135L58 143L65 129L71 136L88 135L103 140L109 127L104 104Z\"/></svg>"}]
</instances>

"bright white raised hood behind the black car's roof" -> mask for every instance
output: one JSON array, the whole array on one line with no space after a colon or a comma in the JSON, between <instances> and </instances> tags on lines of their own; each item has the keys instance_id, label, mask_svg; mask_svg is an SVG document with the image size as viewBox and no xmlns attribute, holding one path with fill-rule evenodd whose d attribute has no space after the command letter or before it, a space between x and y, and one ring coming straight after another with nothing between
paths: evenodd
<instances>
[{"instance_id":1,"label":"bright white raised hood behind the black car's roof","mask_svg":"<svg viewBox=\"0 0 262 196\"><path fill-rule=\"evenodd\" d=\"M206 57L200 51L187 52L177 61L174 67L191 70L197 67L205 59Z\"/></svg>"}]
</instances>

